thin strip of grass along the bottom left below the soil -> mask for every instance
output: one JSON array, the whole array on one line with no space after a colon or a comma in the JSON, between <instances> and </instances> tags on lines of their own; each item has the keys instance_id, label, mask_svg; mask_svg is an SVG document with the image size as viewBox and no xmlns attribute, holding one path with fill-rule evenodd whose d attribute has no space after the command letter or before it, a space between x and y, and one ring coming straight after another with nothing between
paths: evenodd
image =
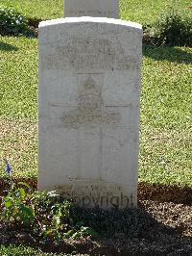
<instances>
[{"instance_id":1,"label":"thin strip of grass along the bottom left below the soil","mask_svg":"<svg viewBox=\"0 0 192 256\"><path fill-rule=\"evenodd\" d=\"M2 256L70 256L71 254L43 253L39 249L27 246L0 245L0 255ZM74 255L74 254L73 254ZM76 254L76 256L83 254ZM85 256L85 254L84 254Z\"/></svg>"}]
</instances>

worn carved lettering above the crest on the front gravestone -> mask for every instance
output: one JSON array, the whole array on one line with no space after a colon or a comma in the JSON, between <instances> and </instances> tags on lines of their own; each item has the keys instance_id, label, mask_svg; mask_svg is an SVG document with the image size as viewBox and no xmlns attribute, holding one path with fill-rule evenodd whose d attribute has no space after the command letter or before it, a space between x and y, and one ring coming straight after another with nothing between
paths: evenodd
<instances>
[{"instance_id":1,"label":"worn carved lettering above the crest on the front gravestone","mask_svg":"<svg viewBox=\"0 0 192 256\"><path fill-rule=\"evenodd\" d=\"M118 41L108 39L71 38L67 45L58 45L53 54L43 57L42 66L47 69L84 68L130 69L138 64L132 56L126 56Z\"/></svg>"}]
</instances>

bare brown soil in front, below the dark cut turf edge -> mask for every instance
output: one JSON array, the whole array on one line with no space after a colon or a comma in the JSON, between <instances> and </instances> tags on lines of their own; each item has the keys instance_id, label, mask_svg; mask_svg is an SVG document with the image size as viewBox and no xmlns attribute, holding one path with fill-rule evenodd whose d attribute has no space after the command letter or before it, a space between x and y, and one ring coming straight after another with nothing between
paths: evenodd
<instances>
[{"instance_id":1,"label":"bare brown soil in front, below the dark cut turf edge","mask_svg":"<svg viewBox=\"0 0 192 256\"><path fill-rule=\"evenodd\" d=\"M60 244L40 241L39 238L0 224L1 244L25 244L44 252L84 253L88 255L192 255L192 207L171 202L139 201L134 230L110 238L92 240L64 240ZM121 222L121 218L117 219Z\"/></svg>"}]
</instances>

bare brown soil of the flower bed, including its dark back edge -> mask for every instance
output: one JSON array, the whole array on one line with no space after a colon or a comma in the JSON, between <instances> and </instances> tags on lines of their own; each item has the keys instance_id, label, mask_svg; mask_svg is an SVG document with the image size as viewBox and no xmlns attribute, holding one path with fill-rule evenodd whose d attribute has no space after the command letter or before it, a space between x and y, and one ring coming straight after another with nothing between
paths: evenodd
<instances>
[{"instance_id":1,"label":"bare brown soil of the flower bed, including its dark back edge","mask_svg":"<svg viewBox=\"0 0 192 256\"><path fill-rule=\"evenodd\" d=\"M35 189L36 181L28 180ZM0 180L0 188L3 188ZM5 188L5 187L4 187ZM139 184L138 209L133 218L109 215L119 223L116 233L99 240L40 241L27 232L0 223L0 244L26 244L45 252L76 255L192 255L192 189ZM126 217L126 218L125 218ZM109 219L109 221L110 221ZM109 221L107 221L109 223ZM122 225L130 227L124 233ZM121 227L121 228L118 228ZM120 232L121 231L121 232Z\"/></svg>"}]
</instances>

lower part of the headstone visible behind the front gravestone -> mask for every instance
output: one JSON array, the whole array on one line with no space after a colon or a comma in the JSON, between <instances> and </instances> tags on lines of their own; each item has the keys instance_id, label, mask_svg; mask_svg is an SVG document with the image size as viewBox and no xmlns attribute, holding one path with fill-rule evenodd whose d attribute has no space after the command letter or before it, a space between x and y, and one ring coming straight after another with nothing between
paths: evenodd
<instances>
[{"instance_id":1,"label":"lower part of the headstone visible behind the front gravestone","mask_svg":"<svg viewBox=\"0 0 192 256\"><path fill-rule=\"evenodd\" d=\"M119 0L64 0L64 16L118 18Z\"/></svg>"}]
</instances>

